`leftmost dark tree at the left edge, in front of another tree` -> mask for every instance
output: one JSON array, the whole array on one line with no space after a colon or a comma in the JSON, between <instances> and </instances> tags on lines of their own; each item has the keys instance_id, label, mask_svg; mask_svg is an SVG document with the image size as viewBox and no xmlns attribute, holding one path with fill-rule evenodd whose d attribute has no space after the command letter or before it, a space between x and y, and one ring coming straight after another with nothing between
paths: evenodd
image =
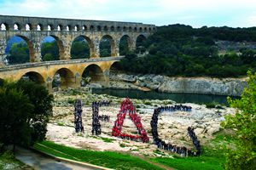
<instances>
[{"instance_id":1,"label":"leftmost dark tree at the left edge, in front of another tree","mask_svg":"<svg viewBox=\"0 0 256 170\"><path fill-rule=\"evenodd\" d=\"M29 120L34 109L26 94L17 88L0 88L0 142L27 145L31 141Z\"/></svg>"}]
</instances>

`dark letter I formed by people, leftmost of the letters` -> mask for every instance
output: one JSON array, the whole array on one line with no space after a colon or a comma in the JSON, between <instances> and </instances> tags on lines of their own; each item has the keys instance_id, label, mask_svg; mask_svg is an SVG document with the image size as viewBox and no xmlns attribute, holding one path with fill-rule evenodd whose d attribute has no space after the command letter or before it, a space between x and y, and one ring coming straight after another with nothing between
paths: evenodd
<instances>
[{"instance_id":1,"label":"dark letter I formed by people, leftmost of the letters","mask_svg":"<svg viewBox=\"0 0 256 170\"><path fill-rule=\"evenodd\" d=\"M77 99L74 104L74 125L76 133L84 133L84 127L82 122L82 100Z\"/></svg>"}]
</instances>

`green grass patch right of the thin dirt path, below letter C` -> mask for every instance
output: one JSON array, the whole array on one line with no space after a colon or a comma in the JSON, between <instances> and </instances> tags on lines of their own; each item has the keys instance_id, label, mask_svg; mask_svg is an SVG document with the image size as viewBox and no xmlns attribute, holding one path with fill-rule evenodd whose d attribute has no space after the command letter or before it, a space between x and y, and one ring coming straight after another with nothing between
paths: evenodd
<instances>
[{"instance_id":1,"label":"green grass patch right of the thin dirt path, below letter C","mask_svg":"<svg viewBox=\"0 0 256 170\"><path fill-rule=\"evenodd\" d=\"M232 144L234 140L230 133L219 132L209 144L202 147L202 156L199 157L180 157L174 158L151 158L151 161L166 165L167 167L177 168L178 170L223 170L222 164L225 162L223 144ZM155 150L155 153L159 151Z\"/></svg>"}]
</instances>

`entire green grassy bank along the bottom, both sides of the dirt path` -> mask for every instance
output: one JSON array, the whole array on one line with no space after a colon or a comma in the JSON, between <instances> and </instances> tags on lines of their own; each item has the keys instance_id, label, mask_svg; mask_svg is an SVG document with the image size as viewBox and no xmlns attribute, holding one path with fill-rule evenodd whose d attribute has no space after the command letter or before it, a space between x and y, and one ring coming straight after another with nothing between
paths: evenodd
<instances>
[{"instance_id":1,"label":"entire green grassy bank along the bottom, both sides of the dirt path","mask_svg":"<svg viewBox=\"0 0 256 170\"><path fill-rule=\"evenodd\" d=\"M232 143L232 136L227 132L215 134L208 144L203 145L200 157L150 158L151 163L142 159L111 151L79 150L71 147L44 141L34 147L54 156L61 156L75 161L85 161L102 167L114 169L161 169L159 165L173 167L178 170L222 170L225 162L224 144Z\"/></svg>"}]
</instances>

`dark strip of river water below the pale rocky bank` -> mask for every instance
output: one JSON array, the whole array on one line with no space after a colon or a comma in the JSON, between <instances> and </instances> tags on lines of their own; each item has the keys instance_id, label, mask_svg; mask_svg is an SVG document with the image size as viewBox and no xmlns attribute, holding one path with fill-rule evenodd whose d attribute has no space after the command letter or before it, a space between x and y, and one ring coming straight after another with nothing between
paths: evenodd
<instances>
[{"instance_id":1,"label":"dark strip of river water below the pale rocky bank","mask_svg":"<svg viewBox=\"0 0 256 170\"><path fill-rule=\"evenodd\" d=\"M93 94L109 94L120 98L128 96L131 99L172 99L177 103L195 103L207 104L217 102L218 104L227 105L227 96L212 94L171 94L158 93L154 91L144 92L141 90L123 90L123 89L92 89ZM234 97L232 97L234 99ZM238 98L238 97L236 97Z\"/></svg>"}]
</instances>

